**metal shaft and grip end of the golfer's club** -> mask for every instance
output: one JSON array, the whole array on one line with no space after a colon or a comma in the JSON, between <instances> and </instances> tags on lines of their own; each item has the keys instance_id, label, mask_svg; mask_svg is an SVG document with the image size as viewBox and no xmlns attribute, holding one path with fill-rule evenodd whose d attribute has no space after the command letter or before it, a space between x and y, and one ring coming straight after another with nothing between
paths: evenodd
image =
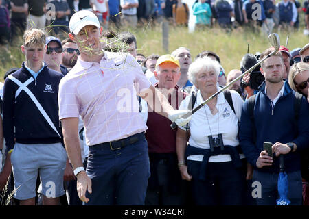
<instances>
[{"instance_id":1,"label":"metal shaft and grip end of the golfer's club","mask_svg":"<svg viewBox=\"0 0 309 219\"><path fill-rule=\"evenodd\" d=\"M223 87L221 90L218 90L216 93L212 94L207 100L205 100L203 103L201 103L200 105L198 105L197 107L195 107L194 109L192 109L190 112L187 112L187 114L183 115L183 118L188 118L189 116L191 116L192 114L194 114L194 112L198 111L201 109L201 107L203 107L206 103L208 103L211 99L214 99L214 97L218 96L218 94L220 94L220 92L225 91L227 88L229 88L229 86L231 86L233 83L235 83L236 81L238 81L240 78L244 77L244 75L246 75L247 73L251 73L252 70L254 70L259 64L261 64L262 62L264 62L266 59L268 59L268 57L271 57L271 55L277 53L277 50L273 51L271 54L267 55L266 57L264 57L262 60L260 60L260 62L256 63L254 66L252 66L251 68L249 68L248 70L246 70L244 73L242 73L242 75L239 75L238 77L236 77L236 79L233 79L233 81L231 81L229 84L227 84L227 86ZM177 125L176 123L172 123L172 125L170 125L170 127L172 129L176 129Z\"/></svg>"}]
</instances>

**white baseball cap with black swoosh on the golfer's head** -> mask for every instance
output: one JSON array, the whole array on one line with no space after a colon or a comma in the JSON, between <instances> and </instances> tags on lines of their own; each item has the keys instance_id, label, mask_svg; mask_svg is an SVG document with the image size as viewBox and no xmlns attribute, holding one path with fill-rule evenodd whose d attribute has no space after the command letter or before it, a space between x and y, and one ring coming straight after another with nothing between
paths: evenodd
<instances>
[{"instance_id":1,"label":"white baseball cap with black swoosh on the golfer's head","mask_svg":"<svg viewBox=\"0 0 309 219\"><path fill-rule=\"evenodd\" d=\"M87 10L81 10L73 14L70 19L69 28L70 32L77 35L82 27L87 25L94 25L100 28L100 22L98 17L93 12Z\"/></svg>"}]
</instances>

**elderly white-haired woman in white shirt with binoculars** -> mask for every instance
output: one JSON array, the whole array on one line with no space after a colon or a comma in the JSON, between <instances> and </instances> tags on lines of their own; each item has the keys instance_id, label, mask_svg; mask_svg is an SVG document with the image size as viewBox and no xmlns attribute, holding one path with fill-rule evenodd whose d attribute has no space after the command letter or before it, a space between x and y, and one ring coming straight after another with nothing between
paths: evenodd
<instances>
[{"instance_id":1,"label":"elderly white-haired woman in white shirt with binoculars","mask_svg":"<svg viewBox=\"0 0 309 219\"><path fill-rule=\"evenodd\" d=\"M188 77L198 88L194 107L221 89L217 83L219 73L220 64L209 57L198 58L190 65ZM183 179L192 181L196 205L242 205L246 176L241 160L244 156L239 150L238 121L243 101L238 92L229 93L233 104L220 92L176 133L179 170ZM187 96L179 109L191 108L192 97Z\"/></svg>"}]
</instances>

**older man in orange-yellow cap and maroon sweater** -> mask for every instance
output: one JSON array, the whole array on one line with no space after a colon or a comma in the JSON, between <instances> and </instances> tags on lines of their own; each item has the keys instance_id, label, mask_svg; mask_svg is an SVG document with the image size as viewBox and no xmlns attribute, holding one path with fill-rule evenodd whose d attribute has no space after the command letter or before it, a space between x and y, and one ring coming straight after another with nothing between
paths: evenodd
<instances>
[{"instance_id":1,"label":"older man in orange-yellow cap and maroon sweater","mask_svg":"<svg viewBox=\"0 0 309 219\"><path fill-rule=\"evenodd\" d=\"M178 109L187 94L176 83L181 76L179 61L172 55L161 55L155 67L159 89L170 105ZM156 112L148 112L146 140L150 159L150 178L146 192L146 205L184 205L185 183L177 168L176 131L170 120Z\"/></svg>"}]
</instances>

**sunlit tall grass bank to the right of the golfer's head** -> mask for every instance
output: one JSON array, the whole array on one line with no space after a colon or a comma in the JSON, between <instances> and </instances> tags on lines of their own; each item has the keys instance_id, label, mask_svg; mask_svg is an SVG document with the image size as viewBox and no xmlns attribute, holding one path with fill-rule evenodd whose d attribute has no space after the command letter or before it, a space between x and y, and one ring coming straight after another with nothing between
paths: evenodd
<instances>
[{"instance_id":1,"label":"sunlit tall grass bank to the right of the golfer's head","mask_svg":"<svg viewBox=\"0 0 309 219\"><path fill-rule=\"evenodd\" d=\"M227 73L234 68L240 68L240 60L247 53L248 44L250 44L249 53L262 53L270 47L268 37L265 34L254 34L244 29L235 29L231 34L227 34L222 29L207 29L188 33L187 29L181 27L170 27L169 33L169 53L172 53L178 47L187 47L192 54L192 60L194 60L196 55L203 50L214 51L219 55L222 66ZM139 53L144 53L144 55L151 53L163 55L165 53L161 43L161 29L138 31L136 35ZM289 36L288 49L290 50L303 47L309 42L309 37L304 36L301 31L290 34L282 32L279 34L282 45L286 44L287 36Z\"/></svg>"}]
</instances>

